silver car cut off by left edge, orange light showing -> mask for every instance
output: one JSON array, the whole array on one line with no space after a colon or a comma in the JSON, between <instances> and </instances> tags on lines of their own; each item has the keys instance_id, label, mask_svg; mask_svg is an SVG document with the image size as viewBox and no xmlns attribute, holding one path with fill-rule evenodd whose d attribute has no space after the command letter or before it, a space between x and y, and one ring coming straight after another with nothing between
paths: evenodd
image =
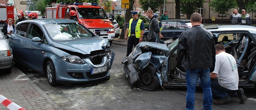
<instances>
[{"instance_id":1,"label":"silver car cut off by left edge, orange light showing","mask_svg":"<svg viewBox=\"0 0 256 110\"><path fill-rule=\"evenodd\" d=\"M4 69L5 73L11 73L12 68L12 49L8 40L0 31L0 69Z\"/></svg>"}]
</instances>

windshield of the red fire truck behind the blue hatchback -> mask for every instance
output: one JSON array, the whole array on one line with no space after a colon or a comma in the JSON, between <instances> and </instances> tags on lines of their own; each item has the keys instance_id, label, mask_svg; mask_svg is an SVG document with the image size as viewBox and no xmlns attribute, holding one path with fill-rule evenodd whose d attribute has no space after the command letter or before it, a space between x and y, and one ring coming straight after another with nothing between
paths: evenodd
<instances>
[{"instance_id":1,"label":"windshield of the red fire truck behind the blue hatchback","mask_svg":"<svg viewBox=\"0 0 256 110\"><path fill-rule=\"evenodd\" d=\"M107 14L100 8L77 8L80 19L108 19Z\"/></svg>"}]
</instances>

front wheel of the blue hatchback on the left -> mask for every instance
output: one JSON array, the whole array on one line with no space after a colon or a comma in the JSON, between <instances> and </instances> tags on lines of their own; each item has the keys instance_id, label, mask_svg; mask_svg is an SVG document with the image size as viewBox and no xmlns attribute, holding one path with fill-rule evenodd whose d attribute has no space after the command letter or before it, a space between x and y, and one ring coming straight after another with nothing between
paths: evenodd
<instances>
[{"instance_id":1,"label":"front wheel of the blue hatchback on the left","mask_svg":"<svg viewBox=\"0 0 256 110\"><path fill-rule=\"evenodd\" d=\"M57 86L58 83L56 82L56 74L55 74L55 67L51 61L46 62L46 74L48 82L51 86Z\"/></svg>"}]
</instances>

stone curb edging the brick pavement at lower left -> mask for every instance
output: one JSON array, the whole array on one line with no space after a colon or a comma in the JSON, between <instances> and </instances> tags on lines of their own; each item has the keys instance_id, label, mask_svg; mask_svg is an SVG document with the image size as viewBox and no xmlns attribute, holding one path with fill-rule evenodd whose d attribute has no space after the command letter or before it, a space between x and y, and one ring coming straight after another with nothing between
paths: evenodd
<instances>
[{"instance_id":1,"label":"stone curb edging the brick pavement at lower left","mask_svg":"<svg viewBox=\"0 0 256 110\"><path fill-rule=\"evenodd\" d=\"M13 69L16 69L18 73L20 73L27 81L28 83L34 87L44 98L47 102L49 102L53 108L56 110L63 110L57 103L55 103L41 88L39 88L31 79L27 77L19 68L14 67Z\"/></svg>"}]
</instances>

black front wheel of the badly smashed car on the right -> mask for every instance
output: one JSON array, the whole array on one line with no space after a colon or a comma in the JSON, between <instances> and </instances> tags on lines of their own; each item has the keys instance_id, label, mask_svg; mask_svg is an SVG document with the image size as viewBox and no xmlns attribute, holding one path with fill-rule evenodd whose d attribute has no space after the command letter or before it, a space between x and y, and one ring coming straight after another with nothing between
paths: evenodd
<instances>
[{"instance_id":1,"label":"black front wheel of the badly smashed car on the right","mask_svg":"<svg viewBox=\"0 0 256 110\"><path fill-rule=\"evenodd\" d=\"M156 76L156 69L153 66L147 66L139 75L140 80L136 85L143 90L153 91L159 87L159 81Z\"/></svg>"}]
</instances>

